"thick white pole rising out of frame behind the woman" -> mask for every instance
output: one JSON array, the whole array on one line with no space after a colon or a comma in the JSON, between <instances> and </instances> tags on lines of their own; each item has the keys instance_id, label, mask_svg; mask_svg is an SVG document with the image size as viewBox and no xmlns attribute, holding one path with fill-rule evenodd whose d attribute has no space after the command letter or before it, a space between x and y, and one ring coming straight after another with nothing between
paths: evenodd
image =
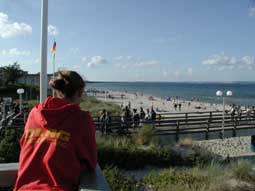
<instances>
[{"instance_id":1,"label":"thick white pole rising out of frame behind the woman","mask_svg":"<svg viewBox=\"0 0 255 191\"><path fill-rule=\"evenodd\" d=\"M48 0L41 0L41 72L40 102L47 98L47 37L48 37Z\"/></svg>"}]
</instances>

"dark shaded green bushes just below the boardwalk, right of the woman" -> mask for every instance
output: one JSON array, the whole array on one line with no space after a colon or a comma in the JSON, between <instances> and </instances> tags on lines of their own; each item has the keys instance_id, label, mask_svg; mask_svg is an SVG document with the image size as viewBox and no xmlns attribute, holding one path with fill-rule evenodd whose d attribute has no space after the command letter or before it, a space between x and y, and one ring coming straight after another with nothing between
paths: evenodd
<instances>
[{"instance_id":1,"label":"dark shaded green bushes just below the boardwalk, right of the woman","mask_svg":"<svg viewBox=\"0 0 255 191\"><path fill-rule=\"evenodd\" d=\"M172 147L141 147L132 137L104 136L97 138L98 160L101 167L117 166L122 169L138 169L145 166L193 166L197 163L208 163L212 158L204 159L195 150L183 156ZM208 157L206 155L206 157ZM211 155L211 157L213 157Z\"/></svg>"}]
</instances>

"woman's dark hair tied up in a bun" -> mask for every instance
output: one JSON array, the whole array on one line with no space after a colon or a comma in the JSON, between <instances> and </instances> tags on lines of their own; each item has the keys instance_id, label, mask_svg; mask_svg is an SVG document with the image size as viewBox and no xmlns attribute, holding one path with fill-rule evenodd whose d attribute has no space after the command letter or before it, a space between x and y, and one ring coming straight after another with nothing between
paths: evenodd
<instances>
[{"instance_id":1,"label":"woman's dark hair tied up in a bun","mask_svg":"<svg viewBox=\"0 0 255 191\"><path fill-rule=\"evenodd\" d=\"M84 80L75 71L59 71L49 84L55 90L62 92L65 97L72 97L78 90L85 88Z\"/></svg>"}]
</instances>

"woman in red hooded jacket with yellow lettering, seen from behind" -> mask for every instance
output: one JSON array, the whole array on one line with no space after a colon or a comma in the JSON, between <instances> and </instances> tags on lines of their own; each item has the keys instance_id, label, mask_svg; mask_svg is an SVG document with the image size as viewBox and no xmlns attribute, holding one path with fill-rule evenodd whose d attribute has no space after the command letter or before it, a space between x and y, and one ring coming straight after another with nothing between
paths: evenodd
<instances>
[{"instance_id":1,"label":"woman in red hooded jacket with yellow lettering, seen from behind","mask_svg":"<svg viewBox=\"0 0 255 191\"><path fill-rule=\"evenodd\" d=\"M60 71L48 97L30 112L20 140L14 190L76 190L84 170L97 164L95 124L79 107L85 83L74 71Z\"/></svg>"}]
</instances>

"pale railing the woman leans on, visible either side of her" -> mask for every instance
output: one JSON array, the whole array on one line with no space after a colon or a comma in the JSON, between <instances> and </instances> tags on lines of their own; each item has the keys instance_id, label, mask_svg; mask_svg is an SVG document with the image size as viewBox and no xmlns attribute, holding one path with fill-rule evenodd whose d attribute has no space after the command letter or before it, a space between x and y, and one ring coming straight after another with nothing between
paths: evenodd
<instances>
[{"instance_id":1,"label":"pale railing the woman leans on, visible either side of her","mask_svg":"<svg viewBox=\"0 0 255 191\"><path fill-rule=\"evenodd\" d=\"M13 187L18 172L18 163L0 164L0 188ZM102 190L110 191L110 187L104 178L104 175L97 165L94 172L84 172L80 176L80 191Z\"/></svg>"}]
</instances>

